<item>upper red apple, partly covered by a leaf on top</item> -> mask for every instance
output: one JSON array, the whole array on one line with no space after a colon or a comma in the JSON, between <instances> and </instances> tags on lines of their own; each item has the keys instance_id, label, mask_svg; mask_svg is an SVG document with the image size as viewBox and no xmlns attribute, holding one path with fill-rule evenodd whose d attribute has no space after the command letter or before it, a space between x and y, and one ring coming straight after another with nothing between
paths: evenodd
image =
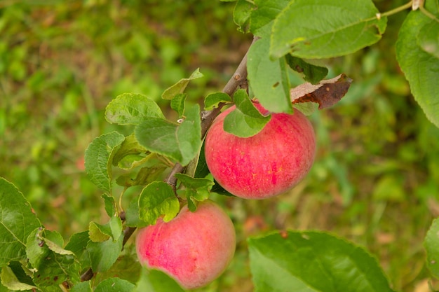
<instances>
[{"instance_id":1,"label":"upper red apple, partly covered by a leaf on top","mask_svg":"<svg viewBox=\"0 0 439 292\"><path fill-rule=\"evenodd\" d=\"M268 114L259 103L255 107ZM313 165L316 135L311 122L295 109L272 113L261 132L248 138L223 129L223 111L205 139L205 161L217 183L232 195L260 200L285 193L304 179Z\"/></svg>"}]
</instances>

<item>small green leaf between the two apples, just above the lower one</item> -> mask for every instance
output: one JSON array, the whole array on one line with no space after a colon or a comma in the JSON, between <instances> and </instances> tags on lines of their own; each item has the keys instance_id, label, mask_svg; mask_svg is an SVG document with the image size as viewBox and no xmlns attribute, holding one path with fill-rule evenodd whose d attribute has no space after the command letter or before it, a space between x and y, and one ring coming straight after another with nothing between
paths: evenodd
<instances>
[{"instance_id":1,"label":"small green leaf between the two apples, just above the lower one","mask_svg":"<svg viewBox=\"0 0 439 292\"><path fill-rule=\"evenodd\" d=\"M187 197L188 207L192 212L196 211L196 204L198 204L198 202L208 200L210 190L215 184L209 179L196 179L186 174L175 174L175 177L180 180L184 186L181 193Z\"/></svg>"}]
</instances>

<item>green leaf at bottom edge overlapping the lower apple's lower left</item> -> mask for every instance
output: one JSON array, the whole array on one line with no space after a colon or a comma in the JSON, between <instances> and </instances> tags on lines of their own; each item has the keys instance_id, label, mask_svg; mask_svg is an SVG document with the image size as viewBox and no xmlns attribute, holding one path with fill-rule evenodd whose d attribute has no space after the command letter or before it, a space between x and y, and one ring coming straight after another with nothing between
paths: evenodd
<instances>
[{"instance_id":1,"label":"green leaf at bottom edge overlapping the lower apple's lower left","mask_svg":"<svg viewBox=\"0 0 439 292\"><path fill-rule=\"evenodd\" d=\"M136 292L184 292L177 282L158 270L142 270L142 277L137 282Z\"/></svg>"}]
</instances>

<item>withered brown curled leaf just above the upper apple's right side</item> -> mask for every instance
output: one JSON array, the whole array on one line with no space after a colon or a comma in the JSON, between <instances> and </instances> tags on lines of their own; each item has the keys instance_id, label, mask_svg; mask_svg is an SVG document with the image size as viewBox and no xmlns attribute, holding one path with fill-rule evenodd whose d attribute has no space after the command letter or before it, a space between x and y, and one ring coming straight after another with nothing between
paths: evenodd
<instances>
[{"instance_id":1,"label":"withered brown curled leaf just above the upper apple's right side","mask_svg":"<svg viewBox=\"0 0 439 292\"><path fill-rule=\"evenodd\" d=\"M327 109L337 104L351 86L352 79L345 74L320 81L317 85L303 83L290 90L291 102L316 102L318 109Z\"/></svg>"}]
</instances>

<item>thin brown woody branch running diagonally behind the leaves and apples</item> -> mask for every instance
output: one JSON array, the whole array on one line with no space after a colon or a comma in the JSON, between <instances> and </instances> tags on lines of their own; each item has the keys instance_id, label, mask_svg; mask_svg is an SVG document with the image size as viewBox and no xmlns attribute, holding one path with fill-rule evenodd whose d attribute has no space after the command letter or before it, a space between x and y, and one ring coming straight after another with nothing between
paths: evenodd
<instances>
[{"instance_id":1,"label":"thin brown woody branch running diagonally behind the leaves and apples","mask_svg":"<svg viewBox=\"0 0 439 292\"><path fill-rule=\"evenodd\" d=\"M254 38L252 41L252 44L257 41L257 38ZM251 45L250 45L251 46ZM241 63L236 68L236 71L233 76L231 76L230 80L227 82L227 84L224 86L224 89L222 92L227 93L229 96L233 96L234 92L238 88L245 88L247 86L247 53L245 53L243 60L241 60ZM210 125L212 125L213 120L219 115L221 112L222 107L224 104L219 104L216 109L212 109L212 111L202 111L201 112L201 137L204 138L205 134L208 132L208 129ZM170 173L166 177L166 183L168 183L170 186L172 186L175 189L175 186L177 184L177 178L175 178L175 174L184 172L185 167L180 165L180 163L176 163L171 169ZM123 244L122 246L125 246L126 242L128 242L128 239L130 239L131 235L135 232L135 227L127 227L125 230L123 230ZM93 273L93 270L91 267L86 270L81 275L81 281L88 281L93 278L95 274Z\"/></svg>"}]
</instances>

